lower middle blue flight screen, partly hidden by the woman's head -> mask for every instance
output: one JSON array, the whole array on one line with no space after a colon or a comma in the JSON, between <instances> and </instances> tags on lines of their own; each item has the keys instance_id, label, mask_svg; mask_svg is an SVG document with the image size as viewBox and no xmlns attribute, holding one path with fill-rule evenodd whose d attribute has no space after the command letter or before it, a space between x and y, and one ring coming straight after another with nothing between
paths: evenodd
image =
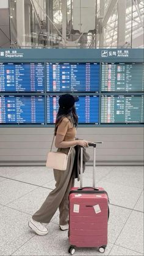
<instances>
[{"instance_id":1,"label":"lower middle blue flight screen, partly hidden by the woman's head","mask_svg":"<svg viewBox=\"0 0 144 256\"><path fill-rule=\"evenodd\" d=\"M75 103L79 124L87 123L98 125L99 123L99 97L97 95L79 96ZM47 96L47 123L55 123L59 110L59 96Z\"/></svg>"}]
</instances>

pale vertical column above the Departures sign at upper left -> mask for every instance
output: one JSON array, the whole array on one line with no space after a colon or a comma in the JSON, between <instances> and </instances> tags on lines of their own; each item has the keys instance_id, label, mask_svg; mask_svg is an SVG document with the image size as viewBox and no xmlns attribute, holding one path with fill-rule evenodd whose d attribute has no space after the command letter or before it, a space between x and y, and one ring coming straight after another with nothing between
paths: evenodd
<instances>
[{"instance_id":1,"label":"pale vertical column above the Departures sign at upper left","mask_svg":"<svg viewBox=\"0 0 144 256\"><path fill-rule=\"evenodd\" d=\"M16 0L16 30L18 46L25 46L24 0Z\"/></svg>"}]
</instances>

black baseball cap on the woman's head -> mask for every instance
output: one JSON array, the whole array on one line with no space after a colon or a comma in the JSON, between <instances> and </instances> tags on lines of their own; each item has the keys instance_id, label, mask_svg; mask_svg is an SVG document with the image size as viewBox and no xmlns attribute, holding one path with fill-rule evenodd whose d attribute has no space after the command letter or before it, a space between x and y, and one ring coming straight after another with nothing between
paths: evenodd
<instances>
[{"instance_id":1,"label":"black baseball cap on the woman's head","mask_svg":"<svg viewBox=\"0 0 144 256\"><path fill-rule=\"evenodd\" d=\"M74 106L74 103L79 101L79 97L71 95L69 93L63 94L59 98L59 106L63 109L70 109Z\"/></svg>"}]
</instances>

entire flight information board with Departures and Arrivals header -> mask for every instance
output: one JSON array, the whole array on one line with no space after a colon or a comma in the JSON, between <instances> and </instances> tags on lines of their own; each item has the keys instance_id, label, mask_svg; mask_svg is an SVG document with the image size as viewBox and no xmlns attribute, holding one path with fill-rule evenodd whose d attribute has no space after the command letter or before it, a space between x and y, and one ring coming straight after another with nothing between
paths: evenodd
<instances>
[{"instance_id":1,"label":"entire flight information board with Departures and Arrivals header","mask_svg":"<svg viewBox=\"0 0 144 256\"><path fill-rule=\"evenodd\" d=\"M143 91L143 49L0 51L0 127L54 126L64 93L81 126L143 126Z\"/></svg>"}]
</instances>

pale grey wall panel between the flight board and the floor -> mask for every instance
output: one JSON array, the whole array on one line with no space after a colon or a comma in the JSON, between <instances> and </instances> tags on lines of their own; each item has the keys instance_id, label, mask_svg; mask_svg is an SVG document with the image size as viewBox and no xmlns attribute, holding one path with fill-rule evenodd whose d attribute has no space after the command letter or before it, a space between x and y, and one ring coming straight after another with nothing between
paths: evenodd
<instances>
[{"instance_id":1,"label":"pale grey wall panel between the flight board and the floor","mask_svg":"<svg viewBox=\"0 0 144 256\"><path fill-rule=\"evenodd\" d=\"M54 128L0 128L0 165L45 165L53 132ZM143 163L143 128L79 127L77 137L103 141L96 148L98 164ZM92 148L88 152L92 161Z\"/></svg>"}]
</instances>

